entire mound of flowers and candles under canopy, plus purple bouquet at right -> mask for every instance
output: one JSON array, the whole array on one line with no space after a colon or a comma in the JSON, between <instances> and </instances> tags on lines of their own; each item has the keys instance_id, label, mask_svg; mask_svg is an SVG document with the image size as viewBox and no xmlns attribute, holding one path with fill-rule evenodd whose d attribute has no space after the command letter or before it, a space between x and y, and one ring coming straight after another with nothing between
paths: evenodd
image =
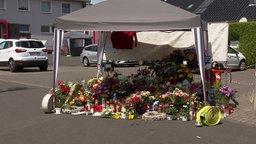
<instances>
[{"instance_id":1,"label":"entire mound of flowers and candles under canopy, plus purple bouquet at right","mask_svg":"<svg viewBox=\"0 0 256 144\"><path fill-rule=\"evenodd\" d=\"M170 57L139 69L137 73L120 79L117 71L105 77L91 78L84 82L58 81L55 106L63 109L81 108L79 112L103 118L134 119L144 113L157 111L167 115L195 118L203 106L202 84L193 81L193 74L183 64L182 55L176 51ZM178 59L177 59L178 57ZM234 91L224 85L214 88L216 105L223 108L236 106Z\"/></svg>"}]
</instances>

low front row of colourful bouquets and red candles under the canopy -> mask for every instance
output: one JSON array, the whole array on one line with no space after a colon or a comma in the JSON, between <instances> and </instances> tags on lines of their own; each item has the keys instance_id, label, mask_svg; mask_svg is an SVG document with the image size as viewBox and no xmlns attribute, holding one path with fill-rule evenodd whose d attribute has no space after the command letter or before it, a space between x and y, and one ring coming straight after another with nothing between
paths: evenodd
<instances>
[{"instance_id":1,"label":"low front row of colourful bouquets and red candles under the canopy","mask_svg":"<svg viewBox=\"0 0 256 144\"><path fill-rule=\"evenodd\" d=\"M176 109L176 114L182 115L184 107L190 108L195 113L194 106L198 103L196 93L189 94L178 88L164 94L142 90L131 93L123 101L120 99L123 97L110 96L115 94L110 93L110 89L102 91L105 87L104 81L109 80L109 78L92 78L88 81L87 87L84 87L81 82L58 81L58 87L53 93L56 101L62 102L61 107L64 109L82 106L82 111L91 114L97 112L104 118L134 119L148 111L167 113L170 107ZM111 83L116 82L112 79ZM112 90L118 92L118 88ZM102 96L103 94L105 96ZM191 109L192 106L193 109Z\"/></svg>"}]
</instances>

